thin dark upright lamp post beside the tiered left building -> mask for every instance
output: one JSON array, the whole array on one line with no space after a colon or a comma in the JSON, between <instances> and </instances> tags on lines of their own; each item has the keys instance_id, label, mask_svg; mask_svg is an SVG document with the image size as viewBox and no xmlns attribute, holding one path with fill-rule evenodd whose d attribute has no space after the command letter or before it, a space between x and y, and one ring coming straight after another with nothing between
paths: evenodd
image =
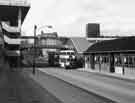
<instances>
[{"instance_id":1,"label":"thin dark upright lamp post beside the tiered left building","mask_svg":"<svg viewBox=\"0 0 135 103\"><path fill-rule=\"evenodd\" d=\"M35 74L36 70L35 70L35 58L36 58L36 31L37 31L37 26L34 25L34 55L33 55L33 71L32 73Z\"/></svg>"}]
</instances>

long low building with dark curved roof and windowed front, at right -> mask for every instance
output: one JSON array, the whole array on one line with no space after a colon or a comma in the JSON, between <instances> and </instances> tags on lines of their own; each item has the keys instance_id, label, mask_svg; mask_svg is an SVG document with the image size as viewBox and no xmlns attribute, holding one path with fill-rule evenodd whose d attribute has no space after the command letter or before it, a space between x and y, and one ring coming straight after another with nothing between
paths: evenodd
<instances>
[{"instance_id":1,"label":"long low building with dark curved roof and windowed front, at right","mask_svg":"<svg viewBox=\"0 0 135 103\"><path fill-rule=\"evenodd\" d=\"M85 52L85 69L135 76L135 37L93 44Z\"/></svg>"}]
</instances>

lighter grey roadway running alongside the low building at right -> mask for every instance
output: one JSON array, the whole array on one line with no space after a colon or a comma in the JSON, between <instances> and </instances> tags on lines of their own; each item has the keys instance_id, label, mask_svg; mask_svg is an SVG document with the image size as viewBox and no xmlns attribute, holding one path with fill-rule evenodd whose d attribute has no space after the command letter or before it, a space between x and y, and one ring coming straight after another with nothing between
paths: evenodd
<instances>
[{"instance_id":1,"label":"lighter grey roadway running alongside the low building at right","mask_svg":"<svg viewBox=\"0 0 135 103\"><path fill-rule=\"evenodd\" d=\"M135 103L134 78L83 69L38 68L38 70L118 103Z\"/></svg>"}]
</instances>

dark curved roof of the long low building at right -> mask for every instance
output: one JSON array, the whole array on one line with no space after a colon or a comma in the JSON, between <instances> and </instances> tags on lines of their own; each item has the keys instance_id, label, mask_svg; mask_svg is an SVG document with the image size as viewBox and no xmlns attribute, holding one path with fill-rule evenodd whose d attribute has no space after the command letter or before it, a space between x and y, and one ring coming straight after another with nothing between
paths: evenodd
<instances>
[{"instance_id":1,"label":"dark curved roof of the long low building at right","mask_svg":"<svg viewBox=\"0 0 135 103\"><path fill-rule=\"evenodd\" d=\"M93 44L85 53L135 52L135 37L123 37Z\"/></svg>"}]
</instances>

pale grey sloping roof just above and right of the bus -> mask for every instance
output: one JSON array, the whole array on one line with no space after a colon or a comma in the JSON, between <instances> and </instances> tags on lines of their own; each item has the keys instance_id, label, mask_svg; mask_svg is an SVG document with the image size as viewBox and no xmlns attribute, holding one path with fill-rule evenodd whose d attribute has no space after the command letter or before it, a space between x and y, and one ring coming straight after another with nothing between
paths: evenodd
<instances>
[{"instance_id":1,"label":"pale grey sloping roof just above and right of the bus","mask_svg":"<svg viewBox=\"0 0 135 103\"><path fill-rule=\"evenodd\" d=\"M75 50L78 53L83 53L88 49L90 45L93 44L93 43L89 43L88 40L86 40L86 38L82 38L82 37L71 37L70 39L73 43Z\"/></svg>"}]
</instances>

